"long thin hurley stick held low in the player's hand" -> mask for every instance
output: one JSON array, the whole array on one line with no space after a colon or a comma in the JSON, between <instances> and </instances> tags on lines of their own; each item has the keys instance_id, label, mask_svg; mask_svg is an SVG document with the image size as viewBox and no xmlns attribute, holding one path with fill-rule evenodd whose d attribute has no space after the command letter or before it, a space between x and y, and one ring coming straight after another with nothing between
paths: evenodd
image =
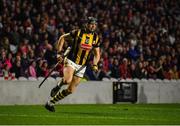
<instances>
[{"instance_id":1,"label":"long thin hurley stick held low in the player's hand","mask_svg":"<svg viewBox=\"0 0 180 126\"><path fill-rule=\"evenodd\" d=\"M63 59L67 57L67 55L69 54L70 50L71 50L70 47L68 47L68 48L66 49L66 51L64 52L64 55L62 56ZM58 58L58 57L57 57L57 58ZM59 63L62 63L62 62L63 62L62 59L58 60L58 62L54 65L54 67L51 69L51 71L48 73L48 75L47 75L47 76L43 79L43 81L39 84L39 88L40 88L41 85L44 83L44 81L51 75L51 73L52 73L52 72L54 71L54 69L58 66L58 64L59 64Z\"/></svg>"}]
</instances>

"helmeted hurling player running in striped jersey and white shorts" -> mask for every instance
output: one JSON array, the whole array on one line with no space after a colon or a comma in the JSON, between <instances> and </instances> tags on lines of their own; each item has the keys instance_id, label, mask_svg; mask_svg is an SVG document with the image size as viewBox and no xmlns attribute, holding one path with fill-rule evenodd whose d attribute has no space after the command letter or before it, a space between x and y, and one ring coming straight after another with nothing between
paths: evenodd
<instances>
[{"instance_id":1,"label":"helmeted hurling player running in striped jersey and white shorts","mask_svg":"<svg viewBox=\"0 0 180 126\"><path fill-rule=\"evenodd\" d=\"M70 33L60 36L56 46L58 53L62 54L61 52L65 42L71 45L71 50L64 61L63 78L51 90L50 95L52 98L45 105L45 108L49 111L55 112L55 103L75 91L84 75L91 53L94 54L92 70L98 70L100 41L98 34L95 32L96 27L97 19L88 17L84 28L73 30ZM63 60L63 56L59 55L58 60ZM60 91L61 87L66 84L68 85L67 89Z\"/></svg>"}]
</instances>

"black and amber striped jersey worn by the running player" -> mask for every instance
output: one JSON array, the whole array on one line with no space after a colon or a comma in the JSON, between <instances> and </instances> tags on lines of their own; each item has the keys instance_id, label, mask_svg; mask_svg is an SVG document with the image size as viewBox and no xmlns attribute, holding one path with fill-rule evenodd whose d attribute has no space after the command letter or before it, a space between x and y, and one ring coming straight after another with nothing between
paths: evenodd
<instances>
[{"instance_id":1,"label":"black and amber striped jersey worn by the running player","mask_svg":"<svg viewBox=\"0 0 180 126\"><path fill-rule=\"evenodd\" d=\"M70 43L71 51L67 58L78 65L86 64L92 49L100 46L98 34L87 33L83 29L78 29L71 31L70 36L73 38L73 41Z\"/></svg>"}]
</instances>

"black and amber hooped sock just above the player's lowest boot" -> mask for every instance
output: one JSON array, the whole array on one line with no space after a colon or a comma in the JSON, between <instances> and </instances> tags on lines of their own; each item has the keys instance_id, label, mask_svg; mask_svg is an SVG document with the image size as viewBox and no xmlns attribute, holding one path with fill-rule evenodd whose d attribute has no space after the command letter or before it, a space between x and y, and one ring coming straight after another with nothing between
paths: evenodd
<instances>
[{"instance_id":1,"label":"black and amber hooped sock just above the player's lowest boot","mask_svg":"<svg viewBox=\"0 0 180 126\"><path fill-rule=\"evenodd\" d=\"M50 102L56 103L57 101L63 99L64 97L68 96L69 94L71 94L71 92L68 91L68 89L62 90L61 92L58 92L58 93L50 100Z\"/></svg>"}]
</instances>

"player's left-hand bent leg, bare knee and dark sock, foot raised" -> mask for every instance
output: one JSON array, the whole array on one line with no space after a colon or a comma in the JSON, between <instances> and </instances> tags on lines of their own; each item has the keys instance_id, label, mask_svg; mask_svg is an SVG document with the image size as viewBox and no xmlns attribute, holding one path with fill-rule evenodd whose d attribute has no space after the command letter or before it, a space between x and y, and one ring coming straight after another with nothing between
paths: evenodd
<instances>
[{"instance_id":1,"label":"player's left-hand bent leg, bare knee and dark sock, foot raised","mask_svg":"<svg viewBox=\"0 0 180 126\"><path fill-rule=\"evenodd\" d=\"M74 69L71 66L64 67L63 78L58 84L51 90L50 96L54 97L63 85L69 84L72 81Z\"/></svg>"}]
</instances>

